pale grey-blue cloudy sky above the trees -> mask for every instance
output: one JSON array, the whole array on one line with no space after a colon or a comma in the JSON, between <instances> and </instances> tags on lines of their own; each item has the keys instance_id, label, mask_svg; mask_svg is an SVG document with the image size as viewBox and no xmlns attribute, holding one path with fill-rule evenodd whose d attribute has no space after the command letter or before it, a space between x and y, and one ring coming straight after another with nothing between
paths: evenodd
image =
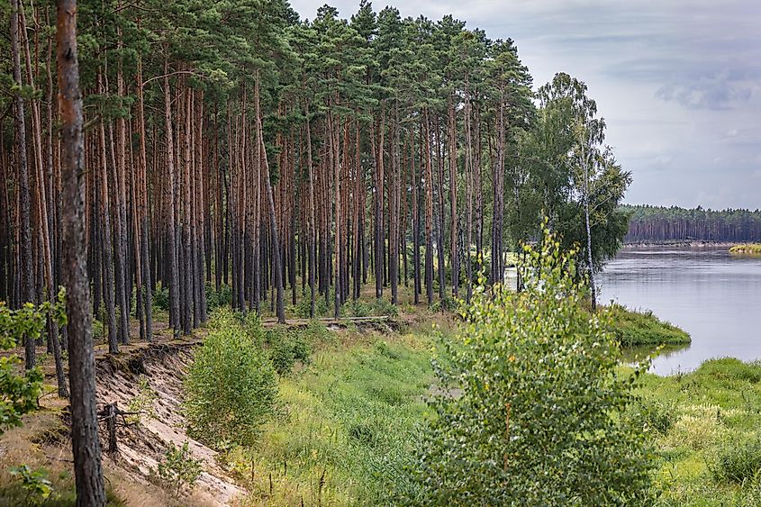
<instances>
[{"instance_id":1,"label":"pale grey-blue cloudy sky above the trees","mask_svg":"<svg viewBox=\"0 0 761 507\"><path fill-rule=\"evenodd\" d=\"M313 19L325 2L291 0ZM330 5L349 17L358 0ZM512 38L534 86L584 81L630 204L761 208L761 0L403 0Z\"/></svg>"}]
</instances>

